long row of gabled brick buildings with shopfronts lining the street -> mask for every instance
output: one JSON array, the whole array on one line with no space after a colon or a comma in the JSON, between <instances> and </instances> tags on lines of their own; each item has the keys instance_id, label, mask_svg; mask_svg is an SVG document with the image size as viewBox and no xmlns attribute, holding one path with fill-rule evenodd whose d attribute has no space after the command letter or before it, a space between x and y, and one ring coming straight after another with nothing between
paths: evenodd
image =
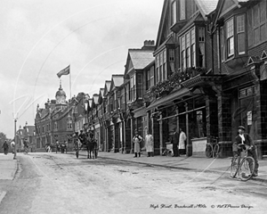
<instances>
[{"instance_id":1,"label":"long row of gabled brick buildings with shopfronts lining the street","mask_svg":"<svg viewBox=\"0 0 267 214\"><path fill-rule=\"evenodd\" d=\"M148 130L155 154L174 128L187 137L186 153L205 155L214 137L220 156L242 125L267 152L267 5L265 0L165 0L156 42L129 49L125 68L95 95L79 93L36 110L36 149L92 130L104 152L133 152L132 138ZM124 71L123 71L124 70ZM143 146L143 145L142 145Z\"/></svg>"}]
</instances>

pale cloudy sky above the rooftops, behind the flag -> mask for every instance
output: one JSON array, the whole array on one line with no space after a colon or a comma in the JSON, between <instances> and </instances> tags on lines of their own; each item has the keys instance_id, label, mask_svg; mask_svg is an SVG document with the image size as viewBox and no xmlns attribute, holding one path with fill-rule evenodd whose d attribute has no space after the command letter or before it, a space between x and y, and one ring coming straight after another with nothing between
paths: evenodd
<instances>
[{"instance_id":1,"label":"pale cloudy sky above the rooftops, behind the flag","mask_svg":"<svg viewBox=\"0 0 267 214\"><path fill-rule=\"evenodd\" d=\"M98 94L112 74L124 74L129 48L155 40L164 0L1 0L0 132L34 126L60 87L69 100ZM70 85L71 80L71 86ZM71 88L71 90L70 90Z\"/></svg>"}]
</instances>

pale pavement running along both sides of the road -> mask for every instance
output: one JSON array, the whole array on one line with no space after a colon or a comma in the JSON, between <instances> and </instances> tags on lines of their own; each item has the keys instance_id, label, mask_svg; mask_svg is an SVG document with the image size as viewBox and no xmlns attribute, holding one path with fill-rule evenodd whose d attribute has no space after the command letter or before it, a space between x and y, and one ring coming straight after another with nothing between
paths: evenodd
<instances>
[{"instance_id":1,"label":"pale pavement running along both sides of the road","mask_svg":"<svg viewBox=\"0 0 267 214\"><path fill-rule=\"evenodd\" d=\"M72 152L68 152L68 154L70 153ZM20 156L21 154L17 153L17 156ZM29 152L28 154L34 154L34 152ZM75 157L74 152L73 155ZM80 158L85 156L87 156L87 152L81 151ZM197 156L186 157L185 155L180 157L167 157L160 155L147 157L145 154L142 154L141 157L134 158L134 154L132 153L123 154L118 152L99 152L99 157L103 159L128 161L164 168L213 172L220 173L222 176L230 176L231 157L223 159L208 159L206 157ZM259 166L259 175L258 177L254 177L254 179L267 183L267 157L264 157L263 160L259 161ZM13 160L12 153L8 153L7 155L0 153L0 180L12 180L15 177L17 169L18 163L17 160Z\"/></svg>"}]
</instances>

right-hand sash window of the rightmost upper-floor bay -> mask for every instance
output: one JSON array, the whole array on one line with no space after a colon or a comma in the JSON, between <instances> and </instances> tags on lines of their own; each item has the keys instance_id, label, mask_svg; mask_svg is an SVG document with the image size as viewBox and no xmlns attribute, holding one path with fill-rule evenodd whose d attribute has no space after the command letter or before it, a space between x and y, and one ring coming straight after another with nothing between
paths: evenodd
<instances>
[{"instance_id":1,"label":"right-hand sash window of the rightmost upper-floor bay","mask_svg":"<svg viewBox=\"0 0 267 214\"><path fill-rule=\"evenodd\" d=\"M245 15L237 16L237 34L239 54L245 53Z\"/></svg>"}]
</instances>

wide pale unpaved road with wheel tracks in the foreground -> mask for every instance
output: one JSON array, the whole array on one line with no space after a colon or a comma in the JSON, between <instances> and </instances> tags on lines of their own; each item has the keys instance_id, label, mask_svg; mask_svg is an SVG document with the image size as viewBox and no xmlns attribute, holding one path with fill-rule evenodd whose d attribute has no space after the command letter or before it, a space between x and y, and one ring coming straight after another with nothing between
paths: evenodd
<instances>
[{"instance_id":1,"label":"wide pale unpaved road with wheel tracks in the foreground","mask_svg":"<svg viewBox=\"0 0 267 214\"><path fill-rule=\"evenodd\" d=\"M1 214L264 213L266 184L74 154L18 155Z\"/></svg>"}]
</instances>

